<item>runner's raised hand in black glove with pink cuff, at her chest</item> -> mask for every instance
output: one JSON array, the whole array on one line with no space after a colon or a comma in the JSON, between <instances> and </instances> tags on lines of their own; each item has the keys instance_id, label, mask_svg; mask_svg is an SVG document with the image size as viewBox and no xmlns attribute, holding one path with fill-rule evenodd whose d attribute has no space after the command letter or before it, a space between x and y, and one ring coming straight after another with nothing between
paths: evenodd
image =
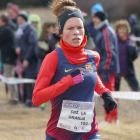
<instances>
[{"instance_id":1,"label":"runner's raised hand in black glove with pink cuff, at her chest","mask_svg":"<svg viewBox=\"0 0 140 140\"><path fill-rule=\"evenodd\" d=\"M81 67L81 68L75 69L70 74L73 79L74 84L79 84L84 81L84 71L85 71L85 68Z\"/></svg>"}]
</instances>

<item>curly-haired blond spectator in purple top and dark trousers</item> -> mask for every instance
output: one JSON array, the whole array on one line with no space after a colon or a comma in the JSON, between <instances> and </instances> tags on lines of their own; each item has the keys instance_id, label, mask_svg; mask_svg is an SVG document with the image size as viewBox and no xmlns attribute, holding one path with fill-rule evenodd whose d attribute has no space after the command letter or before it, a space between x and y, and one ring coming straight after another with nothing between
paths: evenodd
<instances>
[{"instance_id":1,"label":"curly-haired blond spectator in purple top and dark trousers","mask_svg":"<svg viewBox=\"0 0 140 140\"><path fill-rule=\"evenodd\" d=\"M116 75L115 90L119 91L121 77L124 77L132 90L140 91L133 66L133 61L138 57L138 47L130 41L130 26L127 20L116 22L116 33L118 36L120 73Z\"/></svg>"}]
</instances>

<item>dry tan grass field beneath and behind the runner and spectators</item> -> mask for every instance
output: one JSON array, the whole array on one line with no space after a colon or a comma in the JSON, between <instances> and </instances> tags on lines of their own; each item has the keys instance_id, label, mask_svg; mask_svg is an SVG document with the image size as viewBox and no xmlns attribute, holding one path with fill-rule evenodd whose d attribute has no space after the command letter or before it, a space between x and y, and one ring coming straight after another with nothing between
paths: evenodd
<instances>
[{"instance_id":1,"label":"dry tan grass field beneath and behind the runner and spectators","mask_svg":"<svg viewBox=\"0 0 140 140\"><path fill-rule=\"evenodd\" d=\"M42 21L54 21L45 8L29 9L30 13L39 14ZM136 75L140 83L140 58L135 61ZM122 79L122 91L130 91ZM45 111L39 108L25 108L22 103L17 106L8 104L4 84L0 82L0 140L44 140L47 121L50 117L50 104ZM140 140L140 101L119 100L120 124L99 124L102 140ZM104 111L96 100L97 120L104 120Z\"/></svg>"}]
</instances>

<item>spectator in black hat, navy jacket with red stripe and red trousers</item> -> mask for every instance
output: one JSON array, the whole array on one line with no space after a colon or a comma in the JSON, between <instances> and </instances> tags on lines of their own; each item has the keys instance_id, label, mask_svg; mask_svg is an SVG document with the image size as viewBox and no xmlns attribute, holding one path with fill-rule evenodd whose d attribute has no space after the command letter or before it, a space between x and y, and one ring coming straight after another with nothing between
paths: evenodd
<instances>
[{"instance_id":1,"label":"spectator in black hat, navy jacket with red stripe and red trousers","mask_svg":"<svg viewBox=\"0 0 140 140\"><path fill-rule=\"evenodd\" d=\"M109 90L115 91L115 74L119 72L117 37L108 23L105 12L93 16L94 28L98 30L95 50L100 54L98 74ZM117 108L109 114L105 111L105 123L118 123Z\"/></svg>"}]
</instances>

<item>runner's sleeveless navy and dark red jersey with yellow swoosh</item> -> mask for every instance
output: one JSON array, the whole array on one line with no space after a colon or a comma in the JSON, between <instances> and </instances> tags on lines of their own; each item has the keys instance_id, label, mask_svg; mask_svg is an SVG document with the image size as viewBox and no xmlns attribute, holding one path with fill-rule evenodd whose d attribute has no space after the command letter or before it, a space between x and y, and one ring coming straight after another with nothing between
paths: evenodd
<instances>
[{"instance_id":1,"label":"runner's sleeveless navy and dark red jersey with yellow swoosh","mask_svg":"<svg viewBox=\"0 0 140 140\"><path fill-rule=\"evenodd\" d=\"M95 115L93 118L92 130L88 134L76 133L65 129L57 128L57 122L61 113L63 100L83 101L83 102L95 101L94 90L96 86L96 65L94 56L90 51L85 50L88 54L87 62L82 65L73 65L70 62L68 62L62 49L58 48L56 51L58 53L58 66L55 76L51 81L51 84L56 84L63 77L69 75L76 68L85 67L86 71L84 72L84 81L82 83L71 86L64 93L60 94L59 96L51 100L52 114L48 122L46 133L54 138L65 140L73 140L73 139L80 140L81 138L88 138L88 136L91 136L98 131Z\"/></svg>"}]
</instances>

